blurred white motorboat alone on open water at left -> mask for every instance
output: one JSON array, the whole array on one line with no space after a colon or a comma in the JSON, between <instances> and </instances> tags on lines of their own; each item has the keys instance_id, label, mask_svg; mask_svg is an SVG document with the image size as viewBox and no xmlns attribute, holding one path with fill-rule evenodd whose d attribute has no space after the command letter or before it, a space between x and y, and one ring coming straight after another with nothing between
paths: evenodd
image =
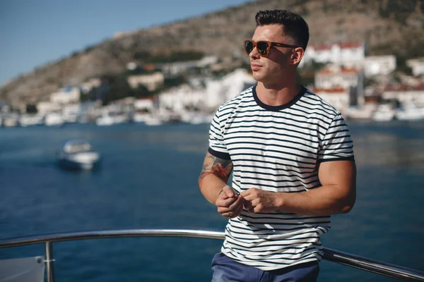
<instances>
[{"instance_id":1,"label":"blurred white motorboat alone on open water at left","mask_svg":"<svg viewBox=\"0 0 424 282\"><path fill-rule=\"evenodd\" d=\"M100 164L100 154L95 152L86 140L69 140L58 156L63 168L90 170Z\"/></svg>"}]
</instances>

